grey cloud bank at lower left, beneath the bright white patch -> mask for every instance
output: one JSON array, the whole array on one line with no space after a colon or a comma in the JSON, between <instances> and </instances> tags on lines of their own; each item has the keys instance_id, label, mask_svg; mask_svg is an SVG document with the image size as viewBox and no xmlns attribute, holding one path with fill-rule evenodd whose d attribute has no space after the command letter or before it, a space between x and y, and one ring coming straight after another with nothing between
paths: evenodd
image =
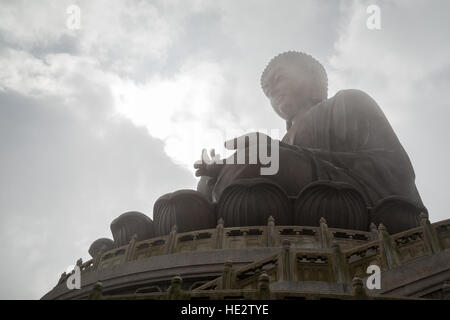
<instances>
[{"instance_id":1,"label":"grey cloud bank at lower left, beneath the bright white patch","mask_svg":"<svg viewBox=\"0 0 450 320\"><path fill-rule=\"evenodd\" d=\"M111 237L116 216L152 216L157 197L195 186L161 141L129 121L80 118L60 99L6 92L0 101L1 241L8 243L1 251L16 264L13 281L2 264L3 298L40 297L76 257L87 258L93 240Z\"/></svg>"}]
</instances>

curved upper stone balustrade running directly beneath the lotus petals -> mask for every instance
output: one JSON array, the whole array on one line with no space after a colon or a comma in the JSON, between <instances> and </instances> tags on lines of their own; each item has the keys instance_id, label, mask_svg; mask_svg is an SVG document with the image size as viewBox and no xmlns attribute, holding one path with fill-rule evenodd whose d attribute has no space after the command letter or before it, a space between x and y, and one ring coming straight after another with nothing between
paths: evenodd
<instances>
[{"instance_id":1,"label":"curved upper stone balustrade running directly beneath the lotus petals","mask_svg":"<svg viewBox=\"0 0 450 320\"><path fill-rule=\"evenodd\" d=\"M100 255L97 268L103 269L130 260L145 259L163 254L209 251L215 249L241 249L280 247L289 241L294 248L329 248L333 242L342 248L351 248L373 239L372 232L328 228L321 220L319 227L275 226L269 218L267 226L225 228L219 220L215 229L177 233L174 226L170 234L158 238L136 241Z\"/></svg>"}]
</instances>

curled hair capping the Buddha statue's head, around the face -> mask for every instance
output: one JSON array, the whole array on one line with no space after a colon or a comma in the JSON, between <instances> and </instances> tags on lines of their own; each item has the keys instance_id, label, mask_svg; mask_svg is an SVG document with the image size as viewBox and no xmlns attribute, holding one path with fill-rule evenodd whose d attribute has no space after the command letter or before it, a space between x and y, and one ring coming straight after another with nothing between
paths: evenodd
<instances>
[{"instance_id":1,"label":"curled hair capping the Buddha statue's head, around the face","mask_svg":"<svg viewBox=\"0 0 450 320\"><path fill-rule=\"evenodd\" d=\"M264 94L268 96L266 81L270 72L286 60L290 60L293 66L300 67L301 72L305 72L310 79L311 100L320 102L328 96L328 77L322 64L314 59L311 55L298 52L287 51L280 53L270 60L261 75L261 88Z\"/></svg>"}]
</instances>

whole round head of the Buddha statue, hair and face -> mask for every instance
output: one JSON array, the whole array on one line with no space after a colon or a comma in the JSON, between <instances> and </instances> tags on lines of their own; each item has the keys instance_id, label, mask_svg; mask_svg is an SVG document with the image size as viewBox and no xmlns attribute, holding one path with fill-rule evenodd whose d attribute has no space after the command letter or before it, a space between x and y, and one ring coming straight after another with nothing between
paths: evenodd
<instances>
[{"instance_id":1,"label":"whole round head of the Buddha statue, hair and face","mask_svg":"<svg viewBox=\"0 0 450 320\"><path fill-rule=\"evenodd\" d=\"M327 98L324 67L301 52L288 51L273 58L261 76L261 87L280 117L291 121Z\"/></svg>"}]
</instances>

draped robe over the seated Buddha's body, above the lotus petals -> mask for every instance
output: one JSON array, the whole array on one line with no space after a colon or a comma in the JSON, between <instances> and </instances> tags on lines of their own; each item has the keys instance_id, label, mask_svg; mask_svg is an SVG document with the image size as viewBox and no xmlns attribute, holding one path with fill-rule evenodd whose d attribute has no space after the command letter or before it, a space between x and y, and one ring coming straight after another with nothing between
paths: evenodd
<instances>
[{"instance_id":1,"label":"draped robe over the seated Buddha's body, above the lotus petals","mask_svg":"<svg viewBox=\"0 0 450 320\"><path fill-rule=\"evenodd\" d=\"M227 186L246 178L271 180L293 197L311 182L328 180L352 185L368 207L390 196L423 207L408 155L378 104L362 91L339 91L298 114L279 155L279 171L272 176L261 176L259 165L225 165L210 182L209 196L217 200Z\"/></svg>"}]
</instances>

